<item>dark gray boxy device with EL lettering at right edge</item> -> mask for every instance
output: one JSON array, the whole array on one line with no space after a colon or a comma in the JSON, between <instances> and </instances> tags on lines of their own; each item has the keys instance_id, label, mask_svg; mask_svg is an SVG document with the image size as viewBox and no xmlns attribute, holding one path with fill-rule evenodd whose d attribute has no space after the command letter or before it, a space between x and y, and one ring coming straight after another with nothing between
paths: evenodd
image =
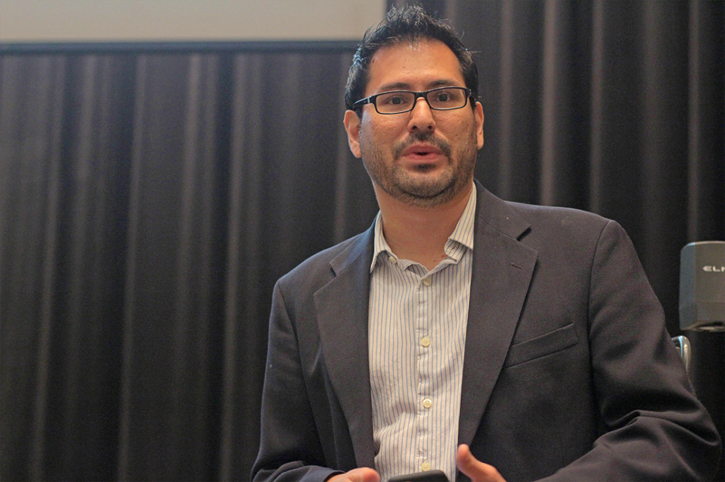
<instances>
[{"instance_id":1,"label":"dark gray boxy device with EL lettering at right edge","mask_svg":"<svg viewBox=\"0 0 725 482\"><path fill-rule=\"evenodd\" d=\"M725 241L682 248L679 319L683 330L725 331Z\"/></svg>"}]
</instances>

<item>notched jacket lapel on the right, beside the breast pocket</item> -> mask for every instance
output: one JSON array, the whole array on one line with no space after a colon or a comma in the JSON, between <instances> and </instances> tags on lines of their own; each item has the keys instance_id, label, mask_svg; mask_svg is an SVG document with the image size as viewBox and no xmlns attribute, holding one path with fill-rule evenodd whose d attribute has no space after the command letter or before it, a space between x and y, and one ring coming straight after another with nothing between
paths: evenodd
<instances>
[{"instance_id":1,"label":"notched jacket lapel on the right, beside the breast pocket","mask_svg":"<svg viewBox=\"0 0 725 482\"><path fill-rule=\"evenodd\" d=\"M529 223L478 183L471 302L458 441L471 444L513 339L537 251L518 242Z\"/></svg>"}]
</instances>

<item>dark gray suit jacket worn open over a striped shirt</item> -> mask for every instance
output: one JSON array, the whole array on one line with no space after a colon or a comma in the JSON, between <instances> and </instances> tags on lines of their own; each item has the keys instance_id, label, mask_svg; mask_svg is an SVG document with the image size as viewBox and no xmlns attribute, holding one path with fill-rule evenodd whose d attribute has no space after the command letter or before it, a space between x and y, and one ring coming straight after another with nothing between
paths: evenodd
<instances>
[{"instance_id":1,"label":"dark gray suit jacket worn open over a striped shirt","mask_svg":"<svg viewBox=\"0 0 725 482\"><path fill-rule=\"evenodd\" d=\"M624 230L476 188L459 443L508 481L711 476L718 434ZM277 283L255 480L374 467L372 255L368 229Z\"/></svg>"}]
</instances>

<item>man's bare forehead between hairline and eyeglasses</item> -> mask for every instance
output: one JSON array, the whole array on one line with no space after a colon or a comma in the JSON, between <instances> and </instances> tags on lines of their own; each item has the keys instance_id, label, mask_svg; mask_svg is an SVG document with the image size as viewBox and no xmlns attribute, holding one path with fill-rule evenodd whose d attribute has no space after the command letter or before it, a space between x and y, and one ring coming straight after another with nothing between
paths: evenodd
<instances>
[{"instance_id":1,"label":"man's bare forehead between hairline and eyeglasses","mask_svg":"<svg viewBox=\"0 0 725 482\"><path fill-rule=\"evenodd\" d=\"M465 87L460 62L441 41L402 41L370 59L365 95L391 89L426 90L441 85Z\"/></svg>"}]
</instances>

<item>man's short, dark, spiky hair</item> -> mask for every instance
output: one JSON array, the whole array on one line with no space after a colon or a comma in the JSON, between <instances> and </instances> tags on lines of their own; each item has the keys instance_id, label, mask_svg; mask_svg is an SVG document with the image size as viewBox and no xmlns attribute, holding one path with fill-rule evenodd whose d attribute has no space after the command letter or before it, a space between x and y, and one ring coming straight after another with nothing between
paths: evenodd
<instances>
[{"instance_id":1,"label":"man's short, dark, spiky hair","mask_svg":"<svg viewBox=\"0 0 725 482\"><path fill-rule=\"evenodd\" d=\"M368 85L370 59L382 47L396 45L403 41L419 42L437 40L453 51L460 63L465 86L471 89L473 99L479 98L479 72L473 62L473 55L456 35L455 31L442 20L431 17L423 7L409 5L390 9L375 30L365 32L363 41L352 57L345 85L345 108L352 109L352 104L363 98ZM362 115L362 106L354 109L358 116Z\"/></svg>"}]
</instances>

